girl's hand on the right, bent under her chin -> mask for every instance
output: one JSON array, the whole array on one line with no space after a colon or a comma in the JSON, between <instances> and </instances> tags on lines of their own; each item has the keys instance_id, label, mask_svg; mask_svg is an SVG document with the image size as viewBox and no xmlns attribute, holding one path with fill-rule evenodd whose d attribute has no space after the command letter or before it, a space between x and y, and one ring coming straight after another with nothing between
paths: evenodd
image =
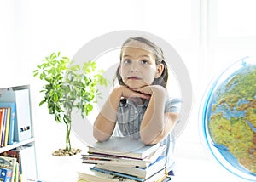
<instances>
[{"instance_id":1,"label":"girl's hand on the right, bent under her chin","mask_svg":"<svg viewBox=\"0 0 256 182\"><path fill-rule=\"evenodd\" d=\"M167 91L166 88L160 86L160 85L149 85L145 86L143 88L137 88L134 89L134 91L140 92L142 94L148 94L148 95L157 95L166 98Z\"/></svg>"}]
</instances>

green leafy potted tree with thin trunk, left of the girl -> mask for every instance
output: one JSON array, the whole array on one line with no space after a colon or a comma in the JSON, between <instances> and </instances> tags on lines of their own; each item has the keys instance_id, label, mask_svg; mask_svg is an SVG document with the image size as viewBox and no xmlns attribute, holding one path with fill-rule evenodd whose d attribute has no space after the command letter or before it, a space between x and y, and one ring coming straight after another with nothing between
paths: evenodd
<instances>
[{"instance_id":1,"label":"green leafy potted tree with thin trunk, left of the girl","mask_svg":"<svg viewBox=\"0 0 256 182\"><path fill-rule=\"evenodd\" d=\"M76 108L83 118L87 116L97 102L96 96L100 95L97 84L107 86L107 80L102 77L103 71L96 68L96 62L74 63L74 60L61 57L60 52L52 53L33 71L34 77L45 82L40 91L44 93L44 99L39 105L47 104L55 121L66 125L66 147L55 151L54 156L72 156L80 152L71 147L72 111Z\"/></svg>"}]
</instances>

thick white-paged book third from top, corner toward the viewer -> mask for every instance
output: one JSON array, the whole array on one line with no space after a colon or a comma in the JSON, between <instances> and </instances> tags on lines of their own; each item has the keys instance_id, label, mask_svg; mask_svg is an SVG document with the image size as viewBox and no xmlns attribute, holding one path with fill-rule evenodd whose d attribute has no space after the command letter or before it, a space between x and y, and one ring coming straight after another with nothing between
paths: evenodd
<instances>
[{"instance_id":1,"label":"thick white-paged book third from top, corner toward the viewer","mask_svg":"<svg viewBox=\"0 0 256 182\"><path fill-rule=\"evenodd\" d=\"M132 176L135 176L140 179L147 179L150 176L154 175L157 171L166 168L166 157L159 156L157 160L151 163L148 168L131 168L124 166L113 166L113 165L101 165L97 164L94 168L101 168L108 171L118 172L118 173L126 173Z\"/></svg>"}]
</instances>

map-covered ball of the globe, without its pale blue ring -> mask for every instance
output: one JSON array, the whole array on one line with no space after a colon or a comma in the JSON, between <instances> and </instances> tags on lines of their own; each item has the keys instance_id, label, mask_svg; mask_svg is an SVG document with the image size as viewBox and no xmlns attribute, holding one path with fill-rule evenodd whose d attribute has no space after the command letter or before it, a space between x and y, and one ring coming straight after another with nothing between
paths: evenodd
<instances>
[{"instance_id":1,"label":"map-covered ball of the globe, without its pale blue ring","mask_svg":"<svg viewBox=\"0 0 256 182\"><path fill-rule=\"evenodd\" d=\"M242 65L212 92L207 125L224 158L256 176L256 65Z\"/></svg>"}]
</instances>

